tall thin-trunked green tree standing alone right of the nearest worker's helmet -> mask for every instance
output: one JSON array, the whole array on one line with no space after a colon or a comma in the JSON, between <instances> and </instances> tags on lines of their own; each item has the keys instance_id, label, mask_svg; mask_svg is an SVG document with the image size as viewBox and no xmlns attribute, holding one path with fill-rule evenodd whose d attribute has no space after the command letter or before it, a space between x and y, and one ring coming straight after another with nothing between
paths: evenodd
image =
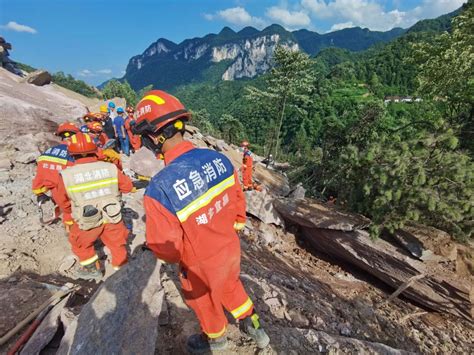
<instances>
[{"instance_id":1,"label":"tall thin-trunked green tree standing alone right of the nearest worker's helmet","mask_svg":"<svg viewBox=\"0 0 474 355\"><path fill-rule=\"evenodd\" d=\"M277 46L273 54L273 67L266 77L266 89L247 88L249 101L266 107L267 114L274 115L275 126L268 154L274 149L274 158L279 154L283 122L291 107L299 113L309 100L314 81L312 61L305 53Z\"/></svg>"}]
</instances>

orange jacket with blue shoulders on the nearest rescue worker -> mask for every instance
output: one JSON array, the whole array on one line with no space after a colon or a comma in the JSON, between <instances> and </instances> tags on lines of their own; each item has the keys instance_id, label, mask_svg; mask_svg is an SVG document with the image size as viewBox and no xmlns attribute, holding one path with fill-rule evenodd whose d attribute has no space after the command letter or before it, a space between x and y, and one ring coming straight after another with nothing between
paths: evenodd
<instances>
[{"instance_id":1,"label":"orange jacket with blue shoulders on the nearest rescue worker","mask_svg":"<svg viewBox=\"0 0 474 355\"><path fill-rule=\"evenodd\" d=\"M234 223L245 222L245 198L229 159L183 142L165 154L145 197L147 243L167 262L185 266L238 243Z\"/></svg>"}]
</instances>

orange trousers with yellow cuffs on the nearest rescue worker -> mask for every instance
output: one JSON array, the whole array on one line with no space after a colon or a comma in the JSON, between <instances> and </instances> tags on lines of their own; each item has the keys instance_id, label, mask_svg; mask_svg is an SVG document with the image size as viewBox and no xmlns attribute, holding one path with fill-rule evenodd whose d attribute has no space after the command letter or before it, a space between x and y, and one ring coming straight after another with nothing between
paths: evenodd
<instances>
[{"instance_id":1,"label":"orange trousers with yellow cuffs on the nearest rescue worker","mask_svg":"<svg viewBox=\"0 0 474 355\"><path fill-rule=\"evenodd\" d=\"M227 327L224 309L235 319L243 319L253 312L253 303L239 275L240 243L237 237L211 258L189 268L181 266L184 299L209 338L224 335Z\"/></svg>"}]
</instances>

